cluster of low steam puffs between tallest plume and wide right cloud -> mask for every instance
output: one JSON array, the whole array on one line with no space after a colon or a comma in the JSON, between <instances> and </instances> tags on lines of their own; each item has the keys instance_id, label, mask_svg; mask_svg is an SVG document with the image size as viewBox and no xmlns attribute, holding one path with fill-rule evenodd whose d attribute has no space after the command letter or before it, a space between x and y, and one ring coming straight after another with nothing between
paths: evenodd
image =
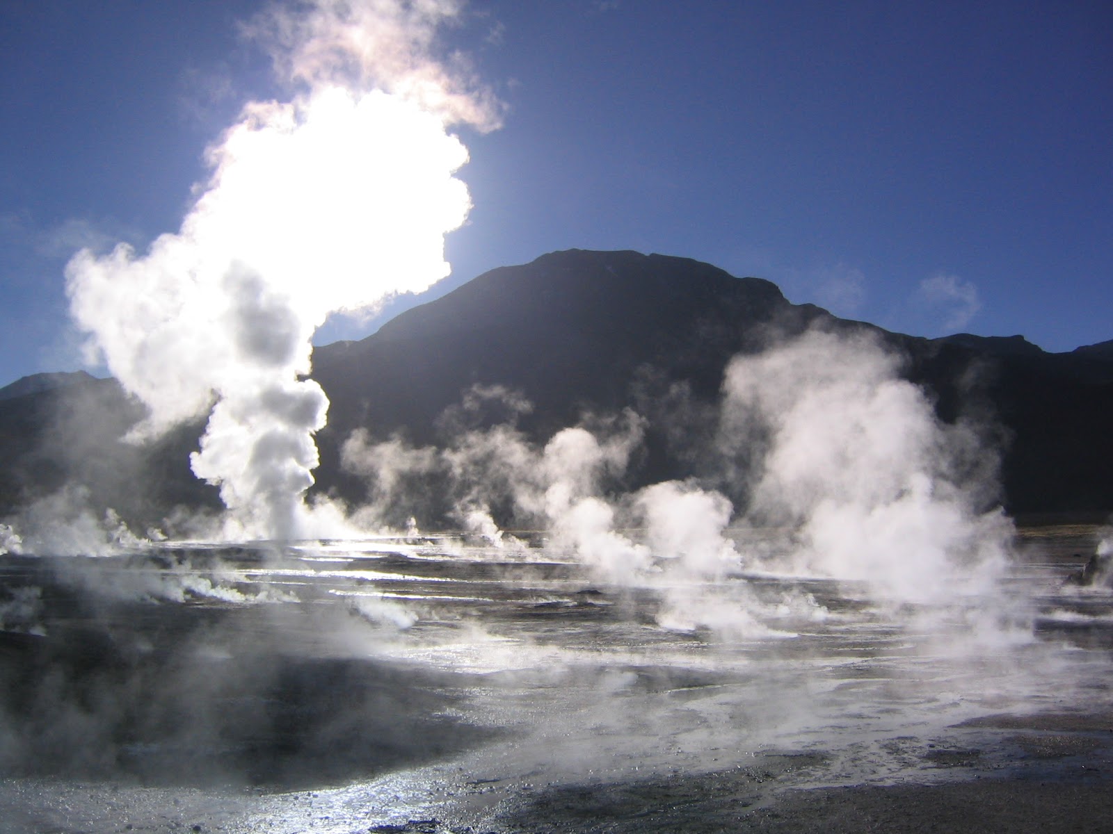
<instances>
[{"instance_id":1,"label":"cluster of low steam puffs between tallest plume and wide right cloud","mask_svg":"<svg viewBox=\"0 0 1113 834\"><path fill-rule=\"evenodd\" d=\"M466 393L447 423L461 426L457 411L482 394ZM498 399L529 410L513 391L499 391ZM430 493L440 488L450 519L496 547L522 550L500 523L540 529L545 557L574 559L615 587L652 588L662 600L662 625L768 634L752 616L762 607L756 598L736 592L727 599L713 587L742 564L726 535L730 500L693 481L622 488L643 434L643 418L629 410L585 415L543 445L511 424L460 428L443 448L414 448L400 437L372 443L358 430L344 445L343 461L371 484L361 519L368 527L397 526L406 513L427 510Z\"/></svg>"}]
</instances>

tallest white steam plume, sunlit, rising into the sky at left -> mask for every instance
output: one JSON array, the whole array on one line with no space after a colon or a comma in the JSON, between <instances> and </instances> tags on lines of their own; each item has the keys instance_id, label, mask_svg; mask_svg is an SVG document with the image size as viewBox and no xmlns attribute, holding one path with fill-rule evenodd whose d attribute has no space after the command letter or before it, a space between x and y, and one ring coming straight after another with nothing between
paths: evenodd
<instances>
[{"instance_id":1,"label":"tallest white steam plume, sunlit, rising into the sky at left","mask_svg":"<svg viewBox=\"0 0 1113 834\"><path fill-rule=\"evenodd\" d=\"M209 148L211 177L177 234L146 254L86 249L71 312L150 408L137 435L210 410L194 473L220 487L228 535L311 535L303 504L328 400L304 377L335 311L445 277L444 235L471 202L454 125L498 127L498 102L431 57L456 0L314 0L245 29L302 92L253 101Z\"/></svg>"}]
</instances>

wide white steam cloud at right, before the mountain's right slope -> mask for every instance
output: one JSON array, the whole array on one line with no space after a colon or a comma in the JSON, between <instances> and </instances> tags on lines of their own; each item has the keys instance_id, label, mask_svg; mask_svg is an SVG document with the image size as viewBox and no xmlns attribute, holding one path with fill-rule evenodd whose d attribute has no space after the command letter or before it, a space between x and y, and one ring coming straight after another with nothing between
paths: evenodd
<instances>
[{"instance_id":1,"label":"wide white steam cloud at right, before the mountain's right slope","mask_svg":"<svg viewBox=\"0 0 1113 834\"><path fill-rule=\"evenodd\" d=\"M994 512L995 455L976 428L939 421L876 339L819 331L738 357L727 370L720 443L765 455L750 469L749 517L799 533L824 574L899 599L939 602L1006 557Z\"/></svg>"}]
</instances>

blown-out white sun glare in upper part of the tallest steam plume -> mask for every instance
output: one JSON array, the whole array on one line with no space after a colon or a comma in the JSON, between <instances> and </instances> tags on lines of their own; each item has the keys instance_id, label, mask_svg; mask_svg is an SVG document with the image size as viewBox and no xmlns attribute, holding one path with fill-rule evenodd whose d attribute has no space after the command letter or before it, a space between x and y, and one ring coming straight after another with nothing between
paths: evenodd
<instances>
[{"instance_id":1,"label":"blown-out white sun glare in upper part of the tallest steam plume","mask_svg":"<svg viewBox=\"0 0 1113 834\"><path fill-rule=\"evenodd\" d=\"M186 232L321 318L450 271L443 237L471 207L452 175L467 151L410 101L329 87L257 105L211 157L214 187Z\"/></svg>"}]
</instances>

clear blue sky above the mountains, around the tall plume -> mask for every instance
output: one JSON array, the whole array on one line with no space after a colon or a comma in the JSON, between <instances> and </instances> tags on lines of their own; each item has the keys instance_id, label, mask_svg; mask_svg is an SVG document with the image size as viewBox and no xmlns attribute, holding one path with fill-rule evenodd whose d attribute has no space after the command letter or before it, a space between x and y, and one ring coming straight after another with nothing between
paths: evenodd
<instances>
[{"instance_id":1,"label":"clear blue sky above the mountains, around the tall plume","mask_svg":"<svg viewBox=\"0 0 1113 834\"><path fill-rule=\"evenodd\" d=\"M260 6L0 4L0 385L79 367L69 256L176 231L205 147L288 98L238 36ZM472 0L443 46L508 110L461 131L474 209L433 295L638 249L903 332L1113 338L1107 0Z\"/></svg>"}]
</instances>

